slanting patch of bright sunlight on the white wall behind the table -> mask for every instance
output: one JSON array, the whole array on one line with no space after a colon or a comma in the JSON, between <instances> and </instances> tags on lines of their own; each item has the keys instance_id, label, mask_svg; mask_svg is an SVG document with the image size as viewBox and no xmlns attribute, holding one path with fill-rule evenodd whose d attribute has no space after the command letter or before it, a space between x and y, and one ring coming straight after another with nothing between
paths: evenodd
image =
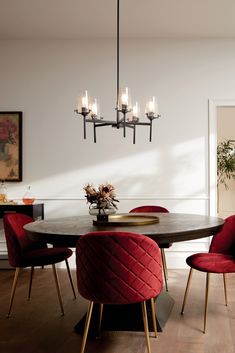
<instances>
[{"instance_id":1,"label":"slanting patch of bright sunlight on the white wall behind the table","mask_svg":"<svg viewBox=\"0 0 235 353\"><path fill-rule=\"evenodd\" d=\"M203 138L197 138L169 148L153 148L135 155L104 160L79 170L65 171L34 180L32 192L36 199L50 201L50 214L64 212L63 200L69 201L70 210L86 212L84 185L91 183L98 186L106 182L115 186L121 201L121 212L140 203L160 202L173 212L188 210L189 213L205 213L206 204L203 199L208 197L203 193L202 175L205 166L199 158L204 143ZM164 174L166 165L168 173ZM17 194L20 199L20 188L15 189L12 197L16 198ZM188 195L194 201L189 200ZM170 200L174 198L175 201ZM164 199L169 199L168 204Z\"/></svg>"}]
</instances>

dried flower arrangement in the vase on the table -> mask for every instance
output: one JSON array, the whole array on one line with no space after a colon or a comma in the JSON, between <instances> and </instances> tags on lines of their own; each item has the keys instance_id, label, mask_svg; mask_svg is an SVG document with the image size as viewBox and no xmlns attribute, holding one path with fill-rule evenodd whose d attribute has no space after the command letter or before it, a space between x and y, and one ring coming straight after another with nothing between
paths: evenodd
<instances>
[{"instance_id":1,"label":"dried flower arrangement in the vase on the table","mask_svg":"<svg viewBox=\"0 0 235 353\"><path fill-rule=\"evenodd\" d=\"M100 184L98 190L96 190L93 185L87 184L84 187L86 193L85 197L87 202L90 203L89 208L92 205L96 205L98 209L116 208L115 202L119 202L116 199L115 188L111 184Z\"/></svg>"}]
</instances>

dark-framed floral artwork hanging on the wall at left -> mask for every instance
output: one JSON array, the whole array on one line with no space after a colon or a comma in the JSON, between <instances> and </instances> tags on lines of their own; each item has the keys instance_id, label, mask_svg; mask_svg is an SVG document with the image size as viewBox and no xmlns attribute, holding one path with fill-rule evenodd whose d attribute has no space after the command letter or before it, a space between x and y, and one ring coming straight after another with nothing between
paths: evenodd
<instances>
[{"instance_id":1,"label":"dark-framed floral artwork hanging on the wall at left","mask_svg":"<svg viewBox=\"0 0 235 353\"><path fill-rule=\"evenodd\" d=\"M22 181L22 112L0 112L0 180Z\"/></svg>"}]
</instances>

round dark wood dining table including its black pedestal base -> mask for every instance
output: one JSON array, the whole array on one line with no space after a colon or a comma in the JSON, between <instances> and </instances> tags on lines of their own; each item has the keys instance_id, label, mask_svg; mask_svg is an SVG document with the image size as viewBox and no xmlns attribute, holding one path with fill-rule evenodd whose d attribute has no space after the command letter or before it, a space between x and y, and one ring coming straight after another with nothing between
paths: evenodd
<instances>
[{"instance_id":1,"label":"round dark wood dining table including its black pedestal base","mask_svg":"<svg viewBox=\"0 0 235 353\"><path fill-rule=\"evenodd\" d=\"M94 216L84 215L35 221L25 225L24 229L31 239L43 240L53 246L76 247L79 237L94 231L134 232L152 238L157 244L167 244L212 236L224 223L224 220L218 217L195 214L143 213L141 215L157 217L157 222L138 224L134 220L140 214L131 213L128 214L128 219L134 217L131 225L125 224L125 222L124 224L110 222L110 224L97 225L93 224ZM163 290L157 297L155 305L158 330L162 331L173 308L174 300L168 292ZM94 314L95 316L96 314ZM96 321L96 319L94 320ZM84 321L85 317L75 326L77 332L82 333ZM151 320L149 321L151 330ZM95 323L91 325L91 327L95 326ZM102 328L111 331L144 330L141 313L136 309L136 304L108 306L108 309L104 311ZM95 335L94 332L93 335Z\"/></svg>"}]
</instances>

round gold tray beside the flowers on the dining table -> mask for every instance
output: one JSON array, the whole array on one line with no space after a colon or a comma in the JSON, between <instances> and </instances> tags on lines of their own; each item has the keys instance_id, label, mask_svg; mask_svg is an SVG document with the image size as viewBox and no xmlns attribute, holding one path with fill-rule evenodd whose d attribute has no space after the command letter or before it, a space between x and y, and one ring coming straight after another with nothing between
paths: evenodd
<instances>
[{"instance_id":1,"label":"round gold tray beside the flowers on the dining table","mask_svg":"<svg viewBox=\"0 0 235 353\"><path fill-rule=\"evenodd\" d=\"M94 225L102 226L143 226L147 224L159 223L159 217L146 215L116 214L109 215L108 221L93 220Z\"/></svg>"}]
</instances>

